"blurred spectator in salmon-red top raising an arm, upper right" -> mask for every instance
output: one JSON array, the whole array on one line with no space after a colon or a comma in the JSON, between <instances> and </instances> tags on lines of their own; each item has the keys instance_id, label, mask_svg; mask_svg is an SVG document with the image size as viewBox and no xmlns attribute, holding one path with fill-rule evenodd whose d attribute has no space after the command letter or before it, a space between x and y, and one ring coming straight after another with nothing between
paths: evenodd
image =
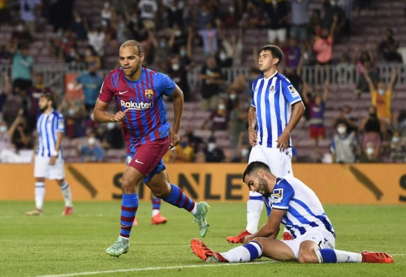
<instances>
[{"instance_id":1,"label":"blurred spectator in salmon-red top raising an arm, upper right","mask_svg":"<svg viewBox=\"0 0 406 277\"><path fill-rule=\"evenodd\" d=\"M320 37L316 37L313 50L316 52L316 62L320 65L330 64L332 60L332 44L334 41L335 28L337 26L337 15L334 16L331 29L321 29Z\"/></svg>"}]
</instances>

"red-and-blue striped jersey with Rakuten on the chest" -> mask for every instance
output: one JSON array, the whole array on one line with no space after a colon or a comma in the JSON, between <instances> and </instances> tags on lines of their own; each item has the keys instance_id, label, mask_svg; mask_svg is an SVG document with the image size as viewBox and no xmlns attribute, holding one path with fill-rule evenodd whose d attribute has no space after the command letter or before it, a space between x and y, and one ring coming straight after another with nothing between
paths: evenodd
<instances>
[{"instance_id":1,"label":"red-and-blue striped jersey with Rakuten on the chest","mask_svg":"<svg viewBox=\"0 0 406 277\"><path fill-rule=\"evenodd\" d=\"M128 80L121 67L107 75L99 99L110 102L115 97L121 111L128 109L123 120L127 152L134 152L137 145L169 135L170 125L163 96L171 96L175 87L175 82L168 75L144 67L137 81Z\"/></svg>"}]
</instances>

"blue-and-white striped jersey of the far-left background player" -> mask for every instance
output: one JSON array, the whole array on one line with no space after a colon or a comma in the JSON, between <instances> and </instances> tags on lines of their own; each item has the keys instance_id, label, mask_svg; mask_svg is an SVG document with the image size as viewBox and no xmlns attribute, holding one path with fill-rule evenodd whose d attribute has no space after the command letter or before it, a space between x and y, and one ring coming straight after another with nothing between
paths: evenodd
<instances>
[{"instance_id":1,"label":"blue-and-white striped jersey of the far-left background player","mask_svg":"<svg viewBox=\"0 0 406 277\"><path fill-rule=\"evenodd\" d=\"M38 147L36 154L42 157L51 157L55 151L56 133L65 132L65 122L62 114L51 111L49 114L40 114L37 118ZM62 154L62 145L60 152Z\"/></svg>"}]
</instances>

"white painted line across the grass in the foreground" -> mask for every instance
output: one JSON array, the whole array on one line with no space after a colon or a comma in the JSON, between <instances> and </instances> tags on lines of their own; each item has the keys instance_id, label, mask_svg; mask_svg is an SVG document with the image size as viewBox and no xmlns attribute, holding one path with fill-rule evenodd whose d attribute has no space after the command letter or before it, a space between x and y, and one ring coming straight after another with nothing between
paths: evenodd
<instances>
[{"instance_id":1,"label":"white painted line across the grass in the foreground","mask_svg":"<svg viewBox=\"0 0 406 277\"><path fill-rule=\"evenodd\" d=\"M87 271L87 272L77 272L71 274L56 274L56 275L41 275L37 277L72 277L72 276L85 276L85 275L94 275L94 274L112 274L118 272L133 272L133 271L155 271L155 270L164 270L164 269L187 269L187 268L196 268L196 267L232 267L236 265L258 265L258 264L268 264L276 263L277 261L269 260L264 262L239 262L239 263L214 263L214 264L203 264L203 265L178 265L175 267L144 267L144 268L135 268L135 269L116 269L116 270L103 270L103 271Z\"/></svg>"}]
</instances>

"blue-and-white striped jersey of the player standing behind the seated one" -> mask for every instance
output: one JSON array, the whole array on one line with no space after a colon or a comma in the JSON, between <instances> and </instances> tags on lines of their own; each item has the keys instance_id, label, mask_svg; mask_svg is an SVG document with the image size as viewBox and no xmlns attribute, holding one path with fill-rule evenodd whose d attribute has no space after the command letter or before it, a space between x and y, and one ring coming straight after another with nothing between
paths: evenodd
<instances>
[{"instance_id":1,"label":"blue-and-white striped jersey of the player standing behind the seated one","mask_svg":"<svg viewBox=\"0 0 406 277\"><path fill-rule=\"evenodd\" d=\"M268 79L263 76L257 78L251 89L251 106L257 109L258 143L276 148L276 140L289 123L291 105L302 98L293 84L278 71Z\"/></svg>"}]
</instances>

